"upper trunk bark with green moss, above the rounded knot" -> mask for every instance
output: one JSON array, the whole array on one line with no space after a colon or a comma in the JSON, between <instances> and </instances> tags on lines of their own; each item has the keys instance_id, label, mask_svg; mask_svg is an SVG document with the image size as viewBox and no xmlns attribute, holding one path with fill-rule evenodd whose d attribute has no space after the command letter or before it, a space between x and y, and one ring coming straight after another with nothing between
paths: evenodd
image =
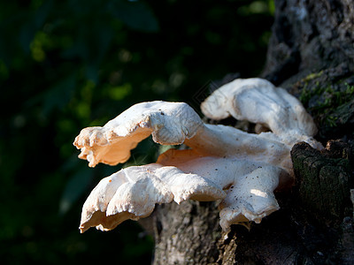
<instances>
[{"instance_id":1,"label":"upper trunk bark with green moss, above the rounded knot","mask_svg":"<svg viewBox=\"0 0 354 265\"><path fill-rule=\"evenodd\" d=\"M278 0L262 76L304 103L318 139L354 137L354 4Z\"/></svg>"}]
</instances>

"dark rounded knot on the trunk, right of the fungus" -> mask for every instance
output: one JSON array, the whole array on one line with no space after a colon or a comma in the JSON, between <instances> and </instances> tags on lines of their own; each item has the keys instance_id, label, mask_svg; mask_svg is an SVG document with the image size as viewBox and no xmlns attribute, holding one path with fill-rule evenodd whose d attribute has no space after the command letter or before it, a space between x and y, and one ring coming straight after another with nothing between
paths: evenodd
<instances>
[{"instance_id":1,"label":"dark rounded knot on the trunk, right of the fungus","mask_svg":"<svg viewBox=\"0 0 354 265\"><path fill-rule=\"evenodd\" d=\"M301 142L292 148L291 157L298 198L305 210L322 223L351 216L353 144L331 140L319 151Z\"/></svg>"}]
</instances>

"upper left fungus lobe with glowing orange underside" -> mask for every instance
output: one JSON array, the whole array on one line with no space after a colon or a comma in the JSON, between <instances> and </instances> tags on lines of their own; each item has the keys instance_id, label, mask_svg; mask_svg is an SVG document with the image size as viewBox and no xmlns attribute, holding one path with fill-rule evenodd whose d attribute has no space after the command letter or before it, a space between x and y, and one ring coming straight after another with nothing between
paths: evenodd
<instances>
[{"instance_id":1,"label":"upper left fungus lobe with glowing orange underside","mask_svg":"<svg viewBox=\"0 0 354 265\"><path fill-rule=\"evenodd\" d=\"M142 102L122 112L104 127L88 127L73 142L90 167L97 163L125 163L130 150L152 134L162 145L178 145L203 125L189 105L182 102Z\"/></svg>"}]
</instances>

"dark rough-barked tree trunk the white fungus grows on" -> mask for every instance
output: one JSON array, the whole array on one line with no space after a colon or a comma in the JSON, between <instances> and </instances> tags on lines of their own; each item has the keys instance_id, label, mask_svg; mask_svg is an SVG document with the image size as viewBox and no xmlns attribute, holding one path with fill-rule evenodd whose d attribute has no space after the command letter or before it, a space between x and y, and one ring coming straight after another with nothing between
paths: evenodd
<instances>
[{"instance_id":1,"label":"dark rough-barked tree trunk the white fungus grows on","mask_svg":"<svg viewBox=\"0 0 354 265\"><path fill-rule=\"evenodd\" d=\"M154 264L354 264L354 4L276 0L262 76L296 95L314 117L324 152L292 150L296 186L250 231L219 227L216 202L158 206L150 217Z\"/></svg>"}]
</instances>

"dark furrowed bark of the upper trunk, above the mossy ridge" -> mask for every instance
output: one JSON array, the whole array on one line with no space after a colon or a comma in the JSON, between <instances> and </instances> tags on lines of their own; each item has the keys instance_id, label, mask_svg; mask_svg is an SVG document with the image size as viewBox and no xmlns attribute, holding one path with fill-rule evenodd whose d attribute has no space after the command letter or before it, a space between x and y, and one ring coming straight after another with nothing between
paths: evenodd
<instances>
[{"instance_id":1,"label":"dark furrowed bark of the upper trunk, above the mossy ridge","mask_svg":"<svg viewBox=\"0 0 354 265\"><path fill-rule=\"evenodd\" d=\"M351 0L275 0L264 75L276 85L344 64L353 70Z\"/></svg>"}]
</instances>

